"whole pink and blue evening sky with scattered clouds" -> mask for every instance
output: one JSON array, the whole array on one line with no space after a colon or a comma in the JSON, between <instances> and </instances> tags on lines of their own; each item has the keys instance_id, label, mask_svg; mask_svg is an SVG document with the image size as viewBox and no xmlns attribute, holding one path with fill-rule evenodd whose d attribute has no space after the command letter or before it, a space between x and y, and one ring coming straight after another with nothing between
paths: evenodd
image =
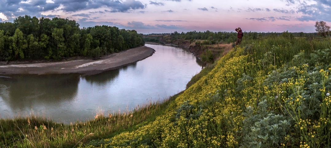
<instances>
[{"instance_id":1,"label":"whole pink and blue evening sky with scattered clouds","mask_svg":"<svg viewBox=\"0 0 331 148\"><path fill-rule=\"evenodd\" d=\"M246 32L316 32L316 21L331 25L331 0L0 0L0 22L24 15L143 34L234 32L237 27Z\"/></svg>"}]
</instances>

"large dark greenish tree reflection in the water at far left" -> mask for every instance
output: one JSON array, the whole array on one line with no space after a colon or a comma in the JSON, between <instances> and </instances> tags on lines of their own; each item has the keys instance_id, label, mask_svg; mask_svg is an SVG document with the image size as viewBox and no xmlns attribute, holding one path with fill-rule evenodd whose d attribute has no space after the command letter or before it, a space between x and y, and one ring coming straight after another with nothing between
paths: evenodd
<instances>
[{"instance_id":1,"label":"large dark greenish tree reflection in the water at far left","mask_svg":"<svg viewBox=\"0 0 331 148\"><path fill-rule=\"evenodd\" d=\"M11 75L13 79L0 79L1 104L12 111L31 108L50 108L75 99L79 75ZM38 109L39 108L39 109ZM7 110L8 111L8 110ZM3 112L0 112L2 115Z\"/></svg>"}]
</instances>

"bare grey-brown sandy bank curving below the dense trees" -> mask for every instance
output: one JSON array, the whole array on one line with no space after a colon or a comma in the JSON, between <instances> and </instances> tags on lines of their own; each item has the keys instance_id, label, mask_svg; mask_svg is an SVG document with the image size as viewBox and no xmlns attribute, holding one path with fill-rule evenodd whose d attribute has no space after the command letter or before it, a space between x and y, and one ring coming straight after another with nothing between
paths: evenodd
<instances>
[{"instance_id":1,"label":"bare grey-brown sandy bank curving below the dense trees","mask_svg":"<svg viewBox=\"0 0 331 148\"><path fill-rule=\"evenodd\" d=\"M154 49L142 46L114 53L98 60L84 59L33 64L10 62L7 65L0 65L0 74L98 74L138 62L152 56L154 52Z\"/></svg>"}]
</instances>

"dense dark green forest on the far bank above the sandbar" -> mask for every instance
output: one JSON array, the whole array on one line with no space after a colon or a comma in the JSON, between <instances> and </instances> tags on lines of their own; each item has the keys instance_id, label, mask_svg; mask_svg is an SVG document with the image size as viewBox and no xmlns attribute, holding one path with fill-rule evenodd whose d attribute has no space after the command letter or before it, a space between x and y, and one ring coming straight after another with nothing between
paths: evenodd
<instances>
[{"instance_id":1,"label":"dense dark green forest on the far bank above the sandbar","mask_svg":"<svg viewBox=\"0 0 331 148\"><path fill-rule=\"evenodd\" d=\"M99 57L144 44L135 30L106 25L79 28L67 18L25 15L0 22L0 61Z\"/></svg>"}]
</instances>

